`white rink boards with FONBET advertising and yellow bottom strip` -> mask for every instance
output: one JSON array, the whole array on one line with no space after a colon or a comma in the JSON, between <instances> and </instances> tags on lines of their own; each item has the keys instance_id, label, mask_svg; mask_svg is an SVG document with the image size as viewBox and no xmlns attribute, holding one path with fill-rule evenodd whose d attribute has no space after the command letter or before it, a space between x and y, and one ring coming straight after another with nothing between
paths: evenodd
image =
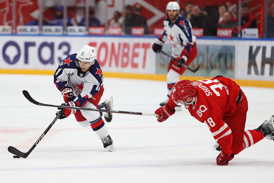
<instances>
[{"instance_id":1,"label":"white rink boards with FONBET advertising and yellow bottom strip","mask_svg":"<svg viewBox=\"0 0 274 183\"><path fill-rule=\"evenodd\" d=\"M53 75L63 58L85 44L96 47L105 77L166 80L169 58L152 50L153 36L1 35L0 73ZM198 55L181 79L223 75L244 86L274 88L274 40L197 39ZM171 46L163 50L171 54Z\"/></svg>"}]
</instances>

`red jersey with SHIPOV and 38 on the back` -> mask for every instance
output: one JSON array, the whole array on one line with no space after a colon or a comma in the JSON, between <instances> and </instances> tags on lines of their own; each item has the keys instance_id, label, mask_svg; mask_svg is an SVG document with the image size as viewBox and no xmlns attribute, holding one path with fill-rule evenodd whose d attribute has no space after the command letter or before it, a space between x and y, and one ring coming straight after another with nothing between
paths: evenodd
<instances>
[{"instance_id":1,"label":"red jersey with SHIPOV and 38 on the back","mask_svg":"<svg viewBox=\"0 0 274 183\"><path fill-rule=\"evenodd\" d=\"M231 79L217 76L210 80L192 81L197 88L194 104L186 106L189 113L200 122L205 122L222 151L231 155L232 132L222 120L236 110L236 101L240 88ZM242 92L242 96L244 96ZM169 106L177 104L170 97ZM238 102L241 99L238 100Z\"/></svg>"}]
</instances>

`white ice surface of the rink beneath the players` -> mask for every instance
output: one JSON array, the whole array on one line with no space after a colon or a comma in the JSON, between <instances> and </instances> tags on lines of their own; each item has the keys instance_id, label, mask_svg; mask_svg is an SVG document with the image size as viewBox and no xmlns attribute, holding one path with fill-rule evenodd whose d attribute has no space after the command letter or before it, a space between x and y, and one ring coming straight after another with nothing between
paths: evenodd
<instances>
[{"instance_id":1,"label":"white ice surface of the rink beneath the players","mask_svg":"<svg viewBox=\"0 0 274 183\"><path fill-rule=\"evenodd\" d=\"M26 159L13 159L7 147L27 152L57 111L30 103L22 90L42 103L59 105L63 97L53 76L0 75L0 80L1 183L273 182L273 141L263 139L228 166L217 166L210 131L185 109L162 123L156 117L114 114L106 122L114 152L70 116L57 120ZM166 99L162 81L104 78L104 88L102 101L113 96L113 108L121 111L154 113ZM249 101L246 129L257 128L274 114L274 89L241 88Z\"/></svg>"}]
</instances>

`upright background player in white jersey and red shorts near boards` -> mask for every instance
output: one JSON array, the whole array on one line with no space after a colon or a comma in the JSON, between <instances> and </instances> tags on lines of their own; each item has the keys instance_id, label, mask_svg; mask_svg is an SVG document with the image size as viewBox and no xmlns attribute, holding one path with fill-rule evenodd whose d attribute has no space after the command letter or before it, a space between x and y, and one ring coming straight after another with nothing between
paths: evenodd
<instances>
[{"instance_id":1,"label":"upright background player in white jersey and red shorts near boards","mask_svg":"<svg viewBox=\"0 0 274 183\"><path fill-rule=\"evenodd\" d=\"M166 5L167 17L164 20L164 33L161 38L156 38L152 49L155 53L161 51L165 41L172 45L172 57L167 73L167 99L160 103L164 106L169 99L171 89L179 81L186 68L197 56L196 37L192 35L192 26L188 19L178 14L180 6L176 1L170 1Z\"/></svg>"}]
</instances>

